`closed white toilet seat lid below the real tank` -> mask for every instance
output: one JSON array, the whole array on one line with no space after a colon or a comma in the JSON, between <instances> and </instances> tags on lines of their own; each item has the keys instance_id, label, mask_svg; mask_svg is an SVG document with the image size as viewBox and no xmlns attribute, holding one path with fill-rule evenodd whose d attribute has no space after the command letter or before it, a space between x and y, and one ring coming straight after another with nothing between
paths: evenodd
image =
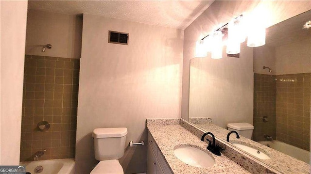
<instances>
[{"instance_id":1,"label":"closed white toilet seat lid below the real tank","mask_svg":"<svg viewBox=\"0 0 311 174\"><path fill-rule=\"evenodd\" d=\"M100 161L90 174L124 174L118 159Z\"/></svg>"}]
</instances>

